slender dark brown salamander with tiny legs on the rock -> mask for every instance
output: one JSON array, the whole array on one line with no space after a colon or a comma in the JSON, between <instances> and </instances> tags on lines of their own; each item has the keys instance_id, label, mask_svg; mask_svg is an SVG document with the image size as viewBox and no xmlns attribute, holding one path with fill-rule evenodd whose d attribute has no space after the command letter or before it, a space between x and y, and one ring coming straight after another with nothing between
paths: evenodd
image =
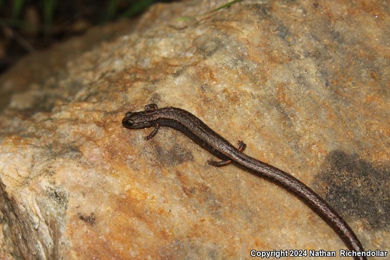
<instances>
[{"instance_id":1,"label":"slender dark brown salamander with tiny legs on the rock","mask_svg":"<svg viewBox=\"0 0 390 260\"><path fill-rule=\"evenodd\" d=\"M364 251L351 227L311 188L290 174L245 155L242 151L246 145L242 141L238 142L239 148L235 148L233 144L218 135L190 112L176 107L158 109L156 104L149 104L145 106L144 111L127 112L122 120L122 125L132 129L154 126L154 130L145 137L145 140L154 137L160 126L175 128L222 159L222 161L208 161L210 165L220 167L233 162L242 169L283 186L325 220L350 250ZM367 257L354 257L354 259L367 260Z\"/></svg>"}]
</instances>

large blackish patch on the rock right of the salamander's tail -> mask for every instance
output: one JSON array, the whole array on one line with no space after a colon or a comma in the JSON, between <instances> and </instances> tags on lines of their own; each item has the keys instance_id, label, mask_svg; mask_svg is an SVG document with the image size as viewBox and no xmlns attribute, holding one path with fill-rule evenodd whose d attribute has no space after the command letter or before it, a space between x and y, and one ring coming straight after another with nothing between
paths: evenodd
<instances>
[{"instance_id":1,"label":"large blackish patch on the rock right of the salamander's tail","mask_svg":"<svg viewBox=\"0 0 390 260\"><path fill-rule=\"evenodd\" d=\"M313 183L316 191L344 217L363 219L373 229L390 230L390 168L357 155L331 152Z\"/></svg>"}]
</instances>

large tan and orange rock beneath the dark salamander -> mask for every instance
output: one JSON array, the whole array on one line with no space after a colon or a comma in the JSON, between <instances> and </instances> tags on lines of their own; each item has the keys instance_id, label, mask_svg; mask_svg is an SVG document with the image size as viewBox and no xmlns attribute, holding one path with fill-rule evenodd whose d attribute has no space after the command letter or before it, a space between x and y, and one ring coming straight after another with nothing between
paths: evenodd
<instances>
[{"instance_id":1,"label":"large tan and orange rock beneath the dark salamander","mask_svg":"<svg viewBox=\"0 0 390 260\"><path fill-rule=\"evenodd\" d=\"M207 165L176 130L146 141L151 129L121 126L151 102L243 140L327 200L366 250L390 249L389 2L244 0L199 15L224 3L156 4L0 78L0 259L346 249L274 183Z\"/></svg>"}]
</instances>

